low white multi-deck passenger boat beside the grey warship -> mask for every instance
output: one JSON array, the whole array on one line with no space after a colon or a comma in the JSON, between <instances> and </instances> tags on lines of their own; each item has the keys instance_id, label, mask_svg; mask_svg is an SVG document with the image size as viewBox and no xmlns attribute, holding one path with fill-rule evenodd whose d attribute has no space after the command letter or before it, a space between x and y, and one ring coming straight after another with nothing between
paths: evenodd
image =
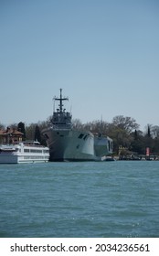
<instances>
[{"instance_id":1,"label":"low white multi-deck passenger boat beside the grey warship","mask_svg":"<svg viewBox=\"0 0 159 256\"><path fill-rule=\"evenodd\" d=\"M38 142L0 144L0 164L48 162L49 149Z\"/></svg>"}]
</instances>

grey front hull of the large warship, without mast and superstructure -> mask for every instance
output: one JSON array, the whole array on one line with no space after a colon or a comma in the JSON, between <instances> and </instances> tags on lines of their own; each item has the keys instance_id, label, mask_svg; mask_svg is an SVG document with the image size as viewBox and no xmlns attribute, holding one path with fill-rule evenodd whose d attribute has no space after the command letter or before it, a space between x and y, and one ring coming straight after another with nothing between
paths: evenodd
<instances>
[{"instance_id":1,"label":"grey front hull of the large warship, without mast and superstructure","mask_svg":"<svg viewBox=\"0 0 159 256\"><path fill-rule=\"evenodd\" d=\"M94 135L77 130L43 131L49 147L50 161L94 161Z\"/></svg>"}]
</instances>

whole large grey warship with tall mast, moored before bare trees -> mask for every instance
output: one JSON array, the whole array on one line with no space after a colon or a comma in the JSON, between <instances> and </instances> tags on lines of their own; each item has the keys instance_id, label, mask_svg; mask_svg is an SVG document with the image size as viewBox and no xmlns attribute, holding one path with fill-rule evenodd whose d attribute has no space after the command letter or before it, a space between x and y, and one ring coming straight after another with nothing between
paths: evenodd
<instances>
[{"instance_id":1,"label":"whole large grey warship with tall mast, moored before bare trees","mask_svg":"<svg viewBox=\"0 0 159 256\"><path fill-rule=\"evenodd\" d=\"M54 98L59 108L53 112L52 121L44 134L50 154L50 161L99 161L112 153L112 140L109 137L95 136L90 131L74 129L71 114L63 108L63 101L69 98Z\"/></svg>"}]
</instances>

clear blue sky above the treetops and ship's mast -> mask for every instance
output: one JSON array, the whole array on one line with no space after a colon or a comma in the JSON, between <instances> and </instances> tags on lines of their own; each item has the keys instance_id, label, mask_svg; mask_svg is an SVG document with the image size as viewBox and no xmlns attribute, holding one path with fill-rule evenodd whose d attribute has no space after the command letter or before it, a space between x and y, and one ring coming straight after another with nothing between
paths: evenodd
<instances>
[{"instance_id":1,"label":"clear blue sky above the treetops and ship's mast","mask_svg":"<svg viewBox=\"0 0 159 256\"><path fill-rule=\"evenodd\" d=\"M1 0L0 123L46 121L63 89L82 123L159 125L158 0Z\"/></svg>"}]
</instances>

